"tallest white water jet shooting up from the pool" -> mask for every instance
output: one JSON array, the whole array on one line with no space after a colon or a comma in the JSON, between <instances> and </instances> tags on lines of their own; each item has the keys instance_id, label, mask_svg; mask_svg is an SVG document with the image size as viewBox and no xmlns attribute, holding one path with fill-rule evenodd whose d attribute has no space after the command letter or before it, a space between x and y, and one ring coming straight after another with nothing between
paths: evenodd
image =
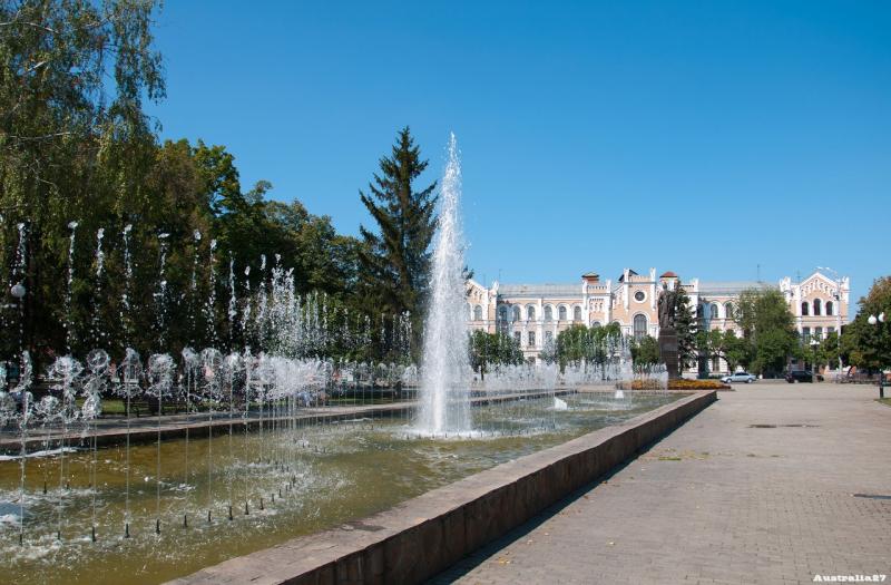
<instances>
[{"instance_id":1,"label":"tallest white water jet shooting up from the pool","mask_svg":"<svg viewBox=\"0 0 891 585\"><path fill-rule=\"evenodd\" d=\"M458 435L471 429L460 198L461 164L452 134L440 192L418 417L419 431L431 435Z\"/></svg>"}]
</instances>

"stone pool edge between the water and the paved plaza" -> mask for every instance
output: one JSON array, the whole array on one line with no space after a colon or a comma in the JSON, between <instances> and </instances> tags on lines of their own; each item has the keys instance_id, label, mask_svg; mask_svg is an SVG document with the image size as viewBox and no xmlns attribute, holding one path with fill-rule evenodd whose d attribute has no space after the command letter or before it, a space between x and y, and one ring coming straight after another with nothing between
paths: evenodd
<instances>
[{"instance_id":1,"label":"stone pool edge between the water and the paved plaza","mask_svg":"<svg viewBox=\"0 0 891 585\"><path fill-rule=\"evenodd\" d=\"M607 475L717 400L714 390L498 465L388 510L169 582L419 583Z\"/></svg>"}]
</instances>

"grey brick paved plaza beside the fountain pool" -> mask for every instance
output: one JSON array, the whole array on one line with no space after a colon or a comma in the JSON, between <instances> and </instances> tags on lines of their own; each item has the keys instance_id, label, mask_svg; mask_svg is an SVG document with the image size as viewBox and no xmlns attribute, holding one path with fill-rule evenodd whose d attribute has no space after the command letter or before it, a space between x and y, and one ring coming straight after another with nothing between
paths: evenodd
<instances>
[{"instance_id":1,"label":"grey brick paved plaza beside the fountain pool","mask_svg":"<svg viewBox=\"0 0 891 585\"><path fill-rule=\"evenodd\" d=\"M736 390L434 583L772 584L891 574L891 408L874 401L877 389Z\"/></svg>"}]
</instances>

